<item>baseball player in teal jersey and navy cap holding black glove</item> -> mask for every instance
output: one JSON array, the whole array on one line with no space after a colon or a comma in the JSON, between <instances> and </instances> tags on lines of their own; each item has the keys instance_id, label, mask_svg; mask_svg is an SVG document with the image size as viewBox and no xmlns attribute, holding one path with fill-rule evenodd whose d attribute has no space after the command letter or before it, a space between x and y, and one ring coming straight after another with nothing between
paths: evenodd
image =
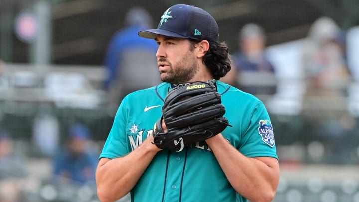
<instances>
[{"instance_id":1,"label":"baseball player in teal jersey and navy cap holding black glove","mask_svg":"<svg viewBox=\"0 0 359 202\"><path fill-rule=\"evenodd\" d=\"M218 81L231 67L214 18L177 4L138 34L157 41L163 83L122 100L97 168L101 202L128 192L132 202L272 201L270 117L259 99Z\"/></svg>"}]
</instances>

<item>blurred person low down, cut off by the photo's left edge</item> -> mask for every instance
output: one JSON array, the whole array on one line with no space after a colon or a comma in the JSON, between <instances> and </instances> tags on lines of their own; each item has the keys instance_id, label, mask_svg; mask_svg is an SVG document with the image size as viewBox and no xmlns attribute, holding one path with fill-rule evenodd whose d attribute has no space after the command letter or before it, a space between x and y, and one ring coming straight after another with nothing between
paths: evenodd
<instances>
[{"instance_id":1,"label":"blurred person low down, cut off by the photo's left edge","mask_svg":"<svg viewBox=\"0 0 359 202\"><path fill-rule=\"evenodd\" d=\"M0 131L0 180L26 176L24 163L13 153L13 141L5 131Z\"/></svg>"}]
</instances>

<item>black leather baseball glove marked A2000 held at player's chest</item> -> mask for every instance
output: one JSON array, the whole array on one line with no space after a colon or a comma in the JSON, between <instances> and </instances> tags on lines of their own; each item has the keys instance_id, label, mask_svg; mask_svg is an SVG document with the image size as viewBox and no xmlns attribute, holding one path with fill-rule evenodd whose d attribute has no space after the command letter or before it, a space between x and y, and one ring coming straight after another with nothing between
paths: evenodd
<instances>
[{"instance_id":1,"label":"black leather baseball glove marked A2000 held at player's chest","mask_svg":"<svg viewBox=\"0 0 359 202\"><path fill-rule=\"evenodd\" d=\"M215 80L181 83L165 98L162 117L154 126L154 144L162 149L182 151L192 143L222 132L229 125L224 113Z\"/></svg>"}]
</instances>

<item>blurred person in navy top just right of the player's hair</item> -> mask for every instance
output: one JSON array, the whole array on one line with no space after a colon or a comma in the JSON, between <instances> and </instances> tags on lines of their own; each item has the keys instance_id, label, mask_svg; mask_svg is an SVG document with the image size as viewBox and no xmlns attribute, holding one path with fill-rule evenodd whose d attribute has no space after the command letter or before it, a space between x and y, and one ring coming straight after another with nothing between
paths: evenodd
<instances>
[{"instance_id":1,"label":"blurred person in navy top just right of the player's hair","mask_svg":"<svg viewBox=\"0 0 359 202\"><path fill-rule=\"evenodd\" d=\"M238 42L240 50L232 56L234 68L231 70L236 72L238 87L251 94L274 94L275 69L265 54L264 29L254 23L246 24L239 32Z\"/></svg>"}]
</instances>

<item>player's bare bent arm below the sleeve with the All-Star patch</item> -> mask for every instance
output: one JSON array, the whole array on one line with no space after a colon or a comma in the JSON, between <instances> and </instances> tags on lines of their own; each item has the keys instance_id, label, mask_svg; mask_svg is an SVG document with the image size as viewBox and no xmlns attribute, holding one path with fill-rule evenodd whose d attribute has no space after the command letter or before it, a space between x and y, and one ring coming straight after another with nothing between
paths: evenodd
<instances>
[{"instance_id":1,"label":"player's bare bent arm below the sleeve with the All-Star patch","mask_svg":"<svg viewBox=\"0 0 359 202\"><path fill-rule=\"evenodd\" d=\"M248 158L234 148L221 134L206 140L232 187L252 202L270 202L279 181L275 158Z\"/></svg>"}]
</instances>

